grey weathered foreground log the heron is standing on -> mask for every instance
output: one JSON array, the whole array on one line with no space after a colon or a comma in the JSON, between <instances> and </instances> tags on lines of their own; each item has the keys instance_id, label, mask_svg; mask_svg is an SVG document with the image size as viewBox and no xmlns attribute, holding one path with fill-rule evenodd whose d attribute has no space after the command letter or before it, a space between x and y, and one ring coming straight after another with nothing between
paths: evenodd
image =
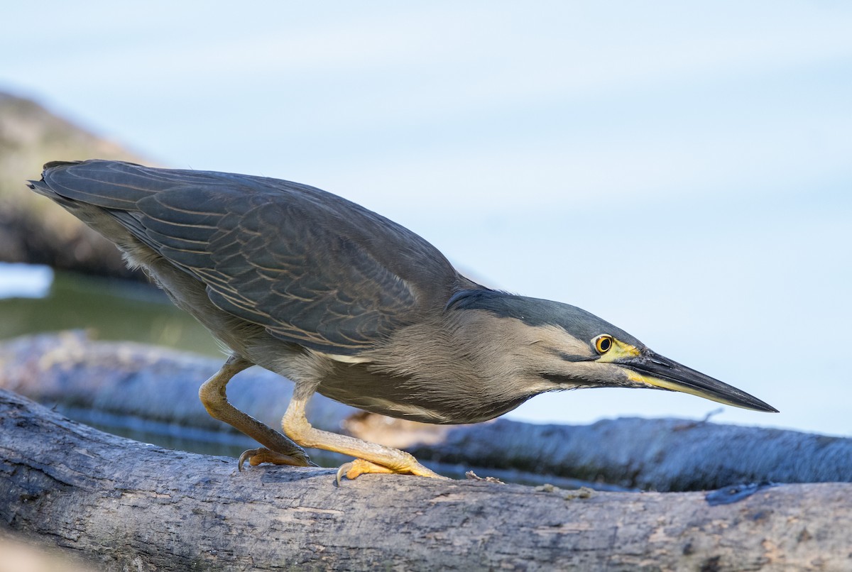
<instances>
[{"instance_id":1,"label":"grey weathered foreground log the heron is standing on","mask_svg":"<svg viewBox=\"0 0 852 572\"><path fill-rule=\"evenodd\" d=\"M0 391L0 523L105 570L852 567L852 484L607 493L253 467ZM708 501L708 498L710 501Z\"/></svg>"}]
</instances>

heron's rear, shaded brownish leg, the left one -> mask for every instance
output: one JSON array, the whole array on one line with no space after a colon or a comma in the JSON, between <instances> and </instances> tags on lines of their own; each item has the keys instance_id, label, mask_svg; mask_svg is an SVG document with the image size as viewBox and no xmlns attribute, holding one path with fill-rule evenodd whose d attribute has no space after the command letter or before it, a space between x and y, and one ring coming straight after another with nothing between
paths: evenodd
<instances>
[{"instance_id":1,"label":"heron's rear, shaded brownish leg, the left one","mask_svg":"<svg viewBox=\"0 0 852 572\"><path fill-rule=\"evenodd\" d=\"M222 369L204 381L199 388L201 403L211 417L226 422L264 445L261 449L249 449L239 455L237 468L242 471L245 460L249 460L250 465L269 462L276 465L316 466L296 443L228 403L225 393L227 382L252 365L254 364L244 358L231 356L222 365Z\"/></svg>"}]
</instances>

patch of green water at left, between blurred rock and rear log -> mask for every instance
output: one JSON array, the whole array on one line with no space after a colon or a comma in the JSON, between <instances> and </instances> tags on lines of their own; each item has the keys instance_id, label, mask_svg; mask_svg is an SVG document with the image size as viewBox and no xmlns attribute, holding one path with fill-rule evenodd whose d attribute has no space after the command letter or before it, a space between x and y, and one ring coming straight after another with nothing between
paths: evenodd
<instances>
[{"instance_id":1,"label":"patch of green water at left, between blurred rock and rear log","mask_svg":"<svg viewBox=\"0 0 852 572\"><path fill-rule=\"evenodd\" d=\"M0 300L0 340L63 329L222 356L207 330L149 284L56 272L46 297Z\"/></svg>"}]
</instances>

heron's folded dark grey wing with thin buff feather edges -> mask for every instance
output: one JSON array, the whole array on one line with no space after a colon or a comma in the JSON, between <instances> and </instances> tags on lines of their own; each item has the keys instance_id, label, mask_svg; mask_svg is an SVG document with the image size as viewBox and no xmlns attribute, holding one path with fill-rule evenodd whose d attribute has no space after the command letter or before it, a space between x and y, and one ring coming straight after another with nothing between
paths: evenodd
<instances>
[{"instance_id":1,"label":"heron's folded dark grey wing with thin buff feather edges","mask_svg":"<svg viewBox=\"0 0 852 572\"><path fill-rule=\"evenodd\" d=\"M34 184L107 210L222 310L321 352L354 354L412 323L424 295L412 277L458 277L416 234L288 181L89 161Z\"/></svg>"}]
</instances>

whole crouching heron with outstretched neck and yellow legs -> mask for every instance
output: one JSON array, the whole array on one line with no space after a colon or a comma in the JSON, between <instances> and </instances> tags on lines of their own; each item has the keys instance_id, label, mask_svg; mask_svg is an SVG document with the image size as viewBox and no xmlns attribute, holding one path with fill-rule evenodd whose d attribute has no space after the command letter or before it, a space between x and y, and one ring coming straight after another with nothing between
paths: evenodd
<instances>
[{"instance_id":1,"label":"whole crouching heron with outstretched neck and yellow legs","mask_svg":"<svg viewBox=\"0 0 852 572\"><path fill-rule=\"evenodd\" d=\"M47 163L29 186L115 243L227 348L199 398L262 445L240 455L240 470L246 460L314 466L305 447L353 458L338 484L365 473L440 478L404 451L311 426L315 392L436 424L590 387L777 411L579 307L486 288L416 233L312 186L105 160ZM295 384L281 432L227 401L228 381L252 365Z\"/></svg>"}]
</instances>

